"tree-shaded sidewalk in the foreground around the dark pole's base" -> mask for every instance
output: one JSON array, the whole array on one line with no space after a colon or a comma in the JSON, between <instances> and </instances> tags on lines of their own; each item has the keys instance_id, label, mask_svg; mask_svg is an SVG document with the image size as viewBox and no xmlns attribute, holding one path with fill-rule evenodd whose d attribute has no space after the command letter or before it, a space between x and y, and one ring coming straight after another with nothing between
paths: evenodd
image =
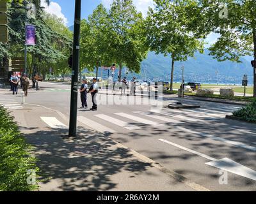
<instances>
[{"instance_id":1,"label":"tree-shaded sidewalk in the foreground around the dark pole's base","mask_svg":"<svg viewBox=\"0 0 256 204\"><path fill-rule=\"evenodd\" d=\"M28 106L13 112L20 130L35 147L42 179L40 191L206 191L177 173L109 138L78 127L76 138L68 129L50 128L42 117L67 119L44 108Z\"/></svg>"}]
</instances>

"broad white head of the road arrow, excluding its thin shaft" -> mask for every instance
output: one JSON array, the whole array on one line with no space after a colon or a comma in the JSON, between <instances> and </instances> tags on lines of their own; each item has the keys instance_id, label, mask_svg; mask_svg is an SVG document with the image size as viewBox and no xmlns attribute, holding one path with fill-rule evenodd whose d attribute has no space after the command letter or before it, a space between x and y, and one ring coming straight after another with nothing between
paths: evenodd
<instances>
[{"instance_id":1,"label":"broad white head of the road arrow, excluding its thin shaft","mask_svg":"<svg viewBox=\"0 0 256 204\"><path fill-rule=\"evenodd\" d=\"M256 171L246 166L243 166L239 163L236 163L235 161L232 161L231 159L228 158L220 159L218 161L211 161L205 164L216 168L220 168L221 170L224 171L235 173L237 175L240 175L241 177L256 180Z\"/></svg>"}]
</instances>

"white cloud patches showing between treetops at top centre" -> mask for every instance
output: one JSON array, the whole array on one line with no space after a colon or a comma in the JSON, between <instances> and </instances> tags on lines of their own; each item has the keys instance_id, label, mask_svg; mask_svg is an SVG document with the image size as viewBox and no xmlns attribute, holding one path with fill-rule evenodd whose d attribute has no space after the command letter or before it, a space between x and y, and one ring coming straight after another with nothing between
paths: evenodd
<instances>
[{"instance_id":1,"label":"white cloud patches showing between treetops at top centre","mask_svg":"<svg viewBox=\"0 0 256 204\"><path fill-rule=\"evenodd\" d=\"M110 8L111 3L113 0L102 0L101 3L106 6L106 8ZM148 6L154 8L154 1L153 0L133 0L133 4L136 6L138 11L141 11L143 16L147 15Z\"/></svg>"}]
</instances>

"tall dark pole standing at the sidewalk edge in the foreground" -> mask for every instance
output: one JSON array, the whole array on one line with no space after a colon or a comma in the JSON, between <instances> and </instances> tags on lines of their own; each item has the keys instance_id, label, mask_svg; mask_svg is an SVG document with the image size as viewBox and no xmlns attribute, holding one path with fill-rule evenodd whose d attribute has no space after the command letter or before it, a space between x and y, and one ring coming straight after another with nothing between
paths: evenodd
<instances>
[{"instance_id":1,"label":"tall dark pole standing at the sidewalk edge in the foreground","mask_svg":"<svg viewBox=\"0 0 256 204\"><path fill-rule=\"evenodd\" d=\"M77 89L79 69L79 45L80 45L80 24L81 24L81 0L76 0L74 39L73 39L73 60L72 60L72 83L70 100L70 120L68 136L76 136L77 129Z\"/></svg>"}]
</instances>

